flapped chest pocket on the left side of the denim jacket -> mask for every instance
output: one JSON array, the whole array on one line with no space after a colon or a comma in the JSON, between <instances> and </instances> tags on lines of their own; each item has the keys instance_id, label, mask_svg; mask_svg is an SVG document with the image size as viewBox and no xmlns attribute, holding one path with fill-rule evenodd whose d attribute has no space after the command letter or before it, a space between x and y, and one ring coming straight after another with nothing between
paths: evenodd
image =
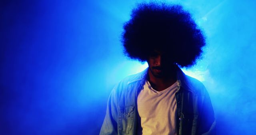
<instances>
[{"instance_id":1,"label":"flapped chest pocket on the left side of the denim jacket","mask_svg":"<svg viewBox=\"0 0 256 135\"><path fill-rule=\"evenodd\" d=\"M134 121L134 106L119 107L118 130L129 134Z\"/></svg>"}]
</instances>

